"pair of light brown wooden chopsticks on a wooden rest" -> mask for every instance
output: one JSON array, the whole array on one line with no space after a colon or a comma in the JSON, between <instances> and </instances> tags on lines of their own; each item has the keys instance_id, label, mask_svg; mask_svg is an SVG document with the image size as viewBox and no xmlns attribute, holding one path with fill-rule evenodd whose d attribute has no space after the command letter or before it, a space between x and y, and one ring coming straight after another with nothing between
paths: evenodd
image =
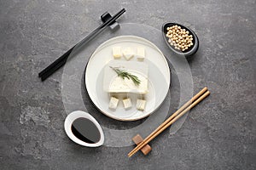
<instances>
[{"instance_id":1,"label":"pair of light brown wooden chopsticks on a wooden rest","mask_svg":"<svg viewBox=\"0 0 256 170\"><path fill-rule=\"evenodd\" d=\"M148 142L154 139L157 135L163 132L167 127L171 126L173 122L176 122L181 116L183 116L187 111L192 109L195 105L201 102L210 94L207 88L203 88L201 92L196 94L192 99L190 99L186 104L184 104L180 109L178 109L172 116L170 116L165 122L163 122L153 133L150 133L146 139L143 140L136 148L131 150L128 154L129 157L133 156L138 150L142 149ZM190 105L191 104L191 105Z\"/></svg>"}]
</instances>

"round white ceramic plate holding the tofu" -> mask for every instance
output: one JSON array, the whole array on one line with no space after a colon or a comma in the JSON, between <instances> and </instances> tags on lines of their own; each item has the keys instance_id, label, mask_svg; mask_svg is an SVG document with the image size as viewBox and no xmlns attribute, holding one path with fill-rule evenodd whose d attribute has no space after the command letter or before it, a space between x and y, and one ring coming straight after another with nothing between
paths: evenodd
<instances>
[{"instance_id":1,"label":"round white ceramic plate holding the tofu","mask_svg":"<svg viewBox=\"0 0 256 170\"><path fill-rule=\"evenodd\" d=\"M103 91L103 76L104 66L113 59L114 46L145 48L146 57L143 62L148 65L148 94L145 95L147 104L144 111L137 111L135 94L128 94L131 98L131 109L125 110L122 101L119 101L115 111L108 108L110 96ZM137 61L137 58L133 57L131 60ZM170 68L166 58L154 43L143 37L119 36L103 42L91 55L85 71L85 87L90 99L103 114L119 121L135 121L149 116L159 108L168 93L170 78Z\"/></svg>"}]
</instances>

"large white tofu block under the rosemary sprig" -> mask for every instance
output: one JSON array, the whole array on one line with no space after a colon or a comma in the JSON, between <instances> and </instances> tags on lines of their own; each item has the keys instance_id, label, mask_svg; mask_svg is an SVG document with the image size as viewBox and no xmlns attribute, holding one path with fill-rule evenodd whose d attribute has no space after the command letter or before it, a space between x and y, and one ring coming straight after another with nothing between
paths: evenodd
<instances>
[{"instance_id":1,"label":"large white tofu block under the rosemary sprig","mask_svg":"<svg viewBox=\"0 0 256 170\"><path fill-rule=\"evenodd\" d=\"M137 76L141 81L140 84L135 85L131 79L118 77L117 73L110 67L119 68L119 70L124 70ZM137 61L111 60L104 69L103 89L108 93L147 94L148 65Z\"/></svg>"}]
</instances>

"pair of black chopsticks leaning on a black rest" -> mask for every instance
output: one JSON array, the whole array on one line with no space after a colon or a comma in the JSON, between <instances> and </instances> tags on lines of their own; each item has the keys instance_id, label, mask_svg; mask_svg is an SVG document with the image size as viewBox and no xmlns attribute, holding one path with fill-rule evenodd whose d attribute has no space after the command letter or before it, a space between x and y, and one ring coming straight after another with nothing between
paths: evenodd
<instances>
[{"instance_id":1,"label":"pair of black chopsticks leaning on a black rest","mask_svg":"<svg viewBox=\"0 0 256 170\"><path fill-rule=\"evenodd\" d=\"M82 41L74 45L73 48L70 48L65 54L61 55L60 58L56 59L52 64L46 67L43 71L39 72L38 77L41 78L41 81L43 82L46 78L48 78L55 71L61 68L61 66L65 65L69 54L73 52L74 48L79 48L85 43L90 42L90 40L93 37L96 37L97 35L99 35L103 30L105 30L109 25L111 25L115 20L117 20L119 16L121 16L124 13L125 13L125 8L122 8L122 10L120 10L117 14L114 14L112 18L104 22L101 26L97 27L94 31L90 32L90 34L84 37Z\"/></svg>"}]
</instances>

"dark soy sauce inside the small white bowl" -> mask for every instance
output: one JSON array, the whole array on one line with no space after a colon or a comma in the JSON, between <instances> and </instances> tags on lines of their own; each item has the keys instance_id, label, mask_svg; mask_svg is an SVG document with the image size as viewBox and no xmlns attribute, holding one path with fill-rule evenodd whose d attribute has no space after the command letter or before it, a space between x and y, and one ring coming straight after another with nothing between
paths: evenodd
<instances>
[{"instance_id":1,"label":"dark soy sauce inside the small white bowl","mask_svg":"<svg viewBox=\"0 0 256 170\"><path fill-rule=\"evenodd\" d=\"M101 133L96 125L84 117L74 120L71 130L78 139L89 144L96 144L101 139Z\"/></svg>"}]
</instances>

